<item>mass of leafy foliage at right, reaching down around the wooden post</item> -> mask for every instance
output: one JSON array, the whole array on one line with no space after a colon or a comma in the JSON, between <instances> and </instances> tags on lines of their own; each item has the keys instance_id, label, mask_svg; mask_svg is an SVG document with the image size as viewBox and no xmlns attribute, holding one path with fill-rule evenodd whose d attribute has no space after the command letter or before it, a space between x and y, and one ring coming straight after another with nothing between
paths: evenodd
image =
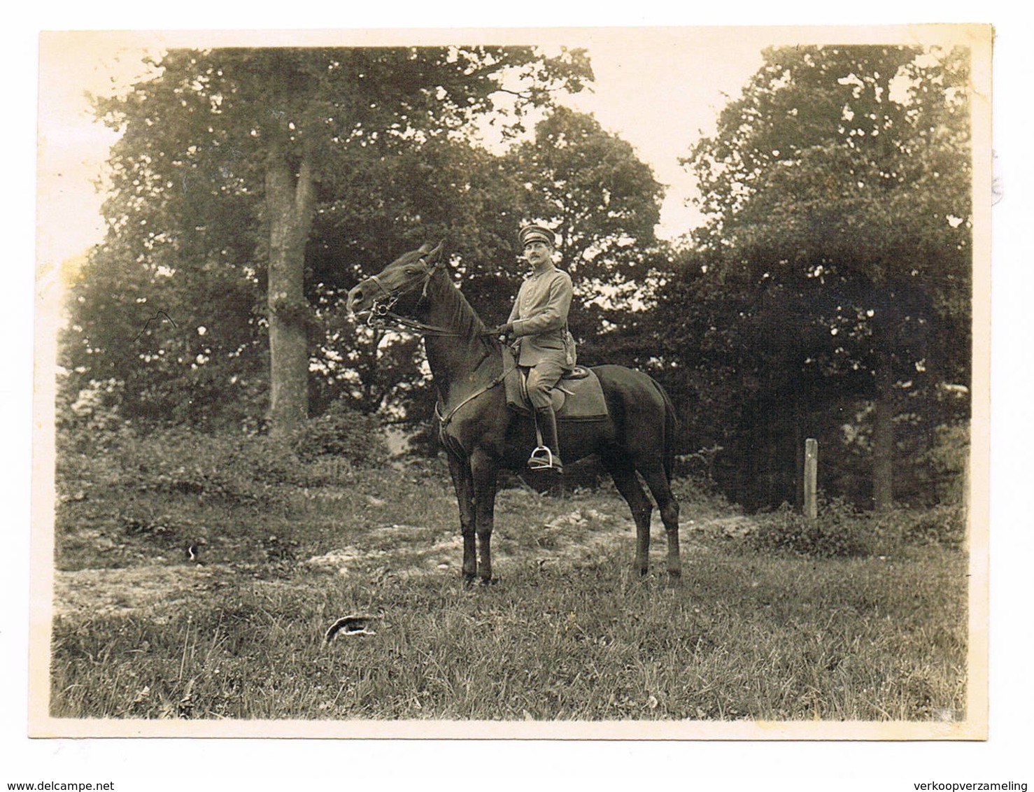
<instances>
[{"instance_id":1,"label":"mass of leafy foliage at right, reaching down around the wooden post","mask_svg":"<svg viewBox=\"0 0 1034 792\"><path fill-rule=\"evenodd\" d=\"M793 476L753 482L797 468L804 436L834 437L845 418L864 416L864 497L887 506L890 464L907 439L895 445L898 427L922 416L932 436L968 410L941 393L969 377L968 55L764 55L716 135L685 160L709 219L676 274L693 307L670 316L674 343L701 352L687 378L717 410L703 422L705 441L725 447L730 470L747 471L726 482L736 499L796 501ZM723 425L725 437L713 431ZM759 450L760 460L744 456Z\"/></svg>"}]
</instances>

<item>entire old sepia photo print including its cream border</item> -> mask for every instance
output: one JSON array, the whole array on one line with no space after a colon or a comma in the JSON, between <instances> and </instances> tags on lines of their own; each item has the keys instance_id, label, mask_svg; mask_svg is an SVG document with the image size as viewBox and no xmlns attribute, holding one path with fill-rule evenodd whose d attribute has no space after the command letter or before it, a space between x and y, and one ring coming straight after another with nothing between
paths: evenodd
<instances>
[{"instance_id":1,"label":"entire old sepia photo print including its cream border","mask_svg":"<svg viewBox=\"0 0 1034 792\"><path fill-rule=\"evenodd\" d=\"M29 733L985 739L992 37L42 33Z\"/></svg>"}]
</instances>

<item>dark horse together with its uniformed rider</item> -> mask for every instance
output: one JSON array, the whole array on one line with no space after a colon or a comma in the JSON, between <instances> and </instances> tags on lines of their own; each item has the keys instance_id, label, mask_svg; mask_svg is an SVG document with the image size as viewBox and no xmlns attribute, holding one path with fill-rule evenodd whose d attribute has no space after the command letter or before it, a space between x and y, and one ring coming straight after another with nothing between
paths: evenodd
<instances>
[{"instance_id":1,"label":"dark horse together with its uniformed rider","mask_svg":"<svg viewBox=\"0 0 1034 792\"><path fill-rule=\"evenodd\" d=\"M443 271L440 245L421 245L404 253L348 292L347 307L356 315L365 314L374 321L382 316L403 319L402 327L418 329L424 335L427 363L438 389L434 412L459 505L463 579L468 583L477 578L486 583L493 580L491 541L498 473L516 454L523 456L521 449L526 451L527 443L521 436L526 419L508 406L514 389L508 394L500 387L506 385L506 374L513 371L514 364L488 355L481 342L484 339L478 336L497 333L521 340L524 348L519 352L519 361L538 369L531 390L537 392L536 402L543 408L551 406L541 398L547 392L543 386L555 382L558 372L574 365L568 334L558 333L571 305L571 279L552 266L553 235L546 229L523 229L521 243L535 273L521 286L511 321L493 330L485 329ZM541 252L535 252L540 245ZM492 365L483 366L486 362ZM552 366L541 366L550 362ZM487 382L496 371L499 374ZM641 371L599 366L592 373L595 379L582 382L595 383L600 399L613 409L602 415L589 410L591 415L582 419L577 433L571 434L577 443L572 440L565 453L569 461L572 455L600 455L635 520L633 563L640 575L645 575L649 566L650 515L657 504L668 536L668 574L674 582L681 575L678 501L671 492L678 432L674 405L664 389ZM549 435L552 451L557 451L555 416L545 409L541 415L543 423L551 424L544 427L545 434ZM533 459L537 457L533 454ZM652 502L644 484L653 496Z\"/></svg>"}]
</instances>

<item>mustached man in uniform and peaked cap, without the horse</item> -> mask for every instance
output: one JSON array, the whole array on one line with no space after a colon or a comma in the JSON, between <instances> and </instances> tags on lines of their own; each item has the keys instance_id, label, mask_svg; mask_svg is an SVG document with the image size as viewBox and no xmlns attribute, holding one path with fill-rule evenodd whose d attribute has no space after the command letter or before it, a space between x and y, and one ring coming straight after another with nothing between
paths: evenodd
<instances>
[{"instance_id":1,"label":"mustached man in uniform and peaked cap, without the horse","mask_svg":"<svg viewBox=\"0 0 1034 792\"><path fill-rule=\"evenodd\" d=\"M564 470L556 439L556 414L550 391L574 368L575 342L568 331L571 276L553 265L554 236L541 225L520 230L524 260L533 273L521 283L500 336L514 336L517 363L527 368L527 393L535 407L539 446L527 460L533 469Z\"/></svg>"}]
</instances>

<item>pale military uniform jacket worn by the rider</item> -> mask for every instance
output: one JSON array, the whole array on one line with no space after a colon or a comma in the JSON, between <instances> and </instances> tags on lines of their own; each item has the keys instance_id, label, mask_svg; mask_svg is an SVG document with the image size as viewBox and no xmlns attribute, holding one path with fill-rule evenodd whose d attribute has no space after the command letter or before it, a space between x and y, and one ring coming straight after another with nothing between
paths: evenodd
<instances>
[{"instance_id":1,"label":"pale military uniform jacket worn by the rider","mask_svg":"<svg viewBox=\"0 0 1034 792\"><path fill-rule=\"evenodd\" d=\"M575 365L575 342L568 332L571 276L553 267L531 275L517 293L510 318L519 346L517 362L536 366L546 360Z\"/></svg>"}]
</instances>

